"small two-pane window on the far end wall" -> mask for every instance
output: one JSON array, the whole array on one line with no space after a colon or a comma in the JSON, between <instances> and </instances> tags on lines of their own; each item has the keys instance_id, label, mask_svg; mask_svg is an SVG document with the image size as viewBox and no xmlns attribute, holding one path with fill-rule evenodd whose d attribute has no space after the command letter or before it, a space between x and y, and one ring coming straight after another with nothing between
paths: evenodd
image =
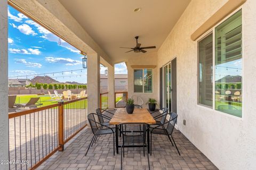
<instances>
[{"instance_id":1,"label":"small two-pane window on the far end wall","mask_svg":"<svg viewBox=\"0 0 256 170\"><path fill-rule=\"evenodd\" d=\"M134 92L153 92L153 70L135 69L134 70Z\"/></svg>"}]
</instances>

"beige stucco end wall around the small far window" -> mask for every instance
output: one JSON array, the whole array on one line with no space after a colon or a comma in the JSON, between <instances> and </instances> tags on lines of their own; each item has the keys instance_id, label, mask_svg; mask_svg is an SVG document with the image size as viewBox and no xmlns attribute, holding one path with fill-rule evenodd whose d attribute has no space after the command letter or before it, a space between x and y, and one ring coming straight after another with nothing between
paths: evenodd
<instances>
[{"instance_id":1,"label":"beige stucco end wall around the small far window","mask_svg":"<svg viewBox=\"0 0 256 170\"><path fill-rule=\"evenodd\" d=\"M146 105L148 98L157 99L158 88L158 69L157 67L153 69L153 93L145 94L145 93L134 93L133 91L133 69L131 65L157 65L157 53L147 53L141 56L133 56L130 57L127 61L127 70L128 70L128 97L132 97L133 95L140 96L143 100L143 108L148 108Z\"/></svg>"}]
</instances>

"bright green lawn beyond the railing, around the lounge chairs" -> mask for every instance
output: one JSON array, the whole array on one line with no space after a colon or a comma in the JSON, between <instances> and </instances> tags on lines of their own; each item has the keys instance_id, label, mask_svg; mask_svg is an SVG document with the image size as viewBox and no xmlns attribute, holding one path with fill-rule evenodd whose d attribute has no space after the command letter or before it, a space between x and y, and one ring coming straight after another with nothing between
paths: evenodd
<instances>
[{"instance_id":1,"label":"bright green lawn beyond the railing, around the lounge chairs","mask_svg":"<svg viewBox=\"0 0 256 170\"><path fill-rule=\"evenodd\" d=\"M15 103L16 104L24 104L27 103L31 97L40 97L38 103L41 103L41 106L38 107L43 107L43 106L49 106L53 104L57 104L57 100L52 100L50 96L48 95L43 95L43 96L38 96L38 95L22 95L22 96L17 96ZM87 108L87 102L85 103L85 106L78 105L76 106L75 104L68 104L65 105L65 108Z\"/></svg>"}]
</instances>

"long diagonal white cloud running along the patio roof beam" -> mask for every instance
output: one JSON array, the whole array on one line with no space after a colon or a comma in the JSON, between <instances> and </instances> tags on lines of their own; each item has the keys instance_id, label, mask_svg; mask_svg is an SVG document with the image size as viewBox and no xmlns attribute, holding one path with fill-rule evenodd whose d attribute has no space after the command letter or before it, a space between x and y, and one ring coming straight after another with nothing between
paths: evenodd
<instances>
[{"instance_id":1,"label":"long diagonal white cloud running along the patio roof beam","mask_svg":"<svg viewBox=\"0 0 256 170\"><path fill-rule=\"evenodd\" d=\"M50 31L46 30L44 27L42 27L38 23L36 23L36 22L34 22L32 20L27 20L25 22L27 24L34 25L37 28L37 30L39 31L39 33L43 34L41 36L42 38L47 39L49 41L56 42L56 43L59 41L59 37L55 36L53 33L51 33ZM78 49L76 49L75 47L71 46L70 44L68 44L64 40L61 40L61 46L67 48L68 50L70 50L70 52L80 53L80 51Z\"/></svg>"}]
</instances>

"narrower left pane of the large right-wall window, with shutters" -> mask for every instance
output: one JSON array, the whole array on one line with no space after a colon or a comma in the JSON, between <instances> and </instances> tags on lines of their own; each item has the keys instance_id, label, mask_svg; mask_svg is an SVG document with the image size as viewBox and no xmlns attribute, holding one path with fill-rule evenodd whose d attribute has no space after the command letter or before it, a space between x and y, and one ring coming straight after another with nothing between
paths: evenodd
<instances>
[{"instance_id":1,"label":"narrower left pane of the large right-wall window, with shutters","mask_svg":"<svg viewBox=\"0 0 256 170\"><path fill-rule=\"evenodd\" d=\"M198 104L212 107L212 33L198 42Z\"/></svg>"}]
</instances>

